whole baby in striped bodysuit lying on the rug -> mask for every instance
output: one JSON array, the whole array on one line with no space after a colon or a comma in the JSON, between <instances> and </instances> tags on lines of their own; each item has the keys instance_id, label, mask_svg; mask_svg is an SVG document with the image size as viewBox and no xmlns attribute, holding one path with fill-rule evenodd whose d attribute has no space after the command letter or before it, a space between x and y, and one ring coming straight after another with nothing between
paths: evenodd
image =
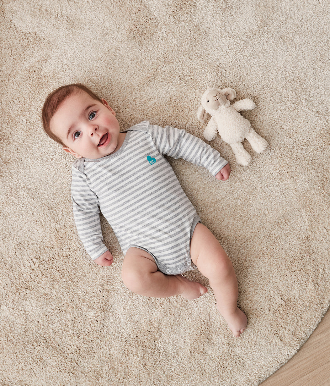
<instances>
[{"instance_id":1,"label":"whole baby in striped bodysuit lying on the rug","mask_svg":"<svg viewBox=\"0 0 330 386\"><path fill-rule=\"evenodd\" d=\"M203 285L181 273L196 267L209 279L217 309L235 337L247 319L237 307L233 265L214 235L201 224L164 154L204 166L218 180L230 167L220 154L185 130L142 122L120 132L106 100L83 85L58 88L42 111L44 130L77 160L72 202L79 237L101 266L111 266L103 244L100 210L125 254L122 280L142 296L196 299Z\"/></svg>"}]
</instances>

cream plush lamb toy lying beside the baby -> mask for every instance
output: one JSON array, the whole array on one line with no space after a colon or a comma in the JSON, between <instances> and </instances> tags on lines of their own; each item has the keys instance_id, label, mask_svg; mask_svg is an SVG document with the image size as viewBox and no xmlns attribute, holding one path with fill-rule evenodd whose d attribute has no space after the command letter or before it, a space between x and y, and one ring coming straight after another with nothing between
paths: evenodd
<instances>
[{"instance_id":1,"label":"cream plush lamb toy lying beside the baby","mask_svg":"<svg viewBox=\"0 0 330 386\"><path fill-rule=\"evenodd\" d=\"M197 118L204 122L209 113L211 119L203 133L205 139L207 141L214 139L218 130L221 139L233 149L237 163L248 166L251 156L244 149L243 140L246 138L257 153L263 152L268 142L260 137L251 127L250 122L239 113L241 110L253 110L256 107L253 100L246 98L231 105L229 101L235 98L236 91L232 88L223 90L209 88L202 96Z\"/></svg>"}]
</instances>

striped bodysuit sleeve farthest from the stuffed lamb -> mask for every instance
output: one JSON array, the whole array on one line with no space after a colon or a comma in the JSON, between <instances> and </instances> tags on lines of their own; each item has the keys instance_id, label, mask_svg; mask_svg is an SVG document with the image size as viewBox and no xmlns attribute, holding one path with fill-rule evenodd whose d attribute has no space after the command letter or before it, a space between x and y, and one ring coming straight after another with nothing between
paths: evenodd
<instances>
[{"instance_id":1,"label":"striped bodysuit sleeve farthest from the stuffed lamb","mask_svg":"<svg viewBox=\"0 0 330 386\"><path fill-rule=\"evenodd\" d=\"M108 250L103 244L99 201L89 188L84 173L79 171L75 164L72 167L71 195L80 240L87 253L95 260Z\"/></svg>"}]
</instances>

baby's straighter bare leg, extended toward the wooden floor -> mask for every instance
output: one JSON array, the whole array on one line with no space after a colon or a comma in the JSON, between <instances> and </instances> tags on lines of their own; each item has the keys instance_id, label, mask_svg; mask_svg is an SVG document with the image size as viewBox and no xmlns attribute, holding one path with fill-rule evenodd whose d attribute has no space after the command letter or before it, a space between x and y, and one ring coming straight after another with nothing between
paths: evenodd
<instances>
[{"instance_id":1,"label":"baby's straighter bare leg, extended toward the wooden floor","mask_svg":"<svg viewBox=\"0 0 330 386\"><path fill-rule=\"evenodd\" d=\"M246 328L244 312L237 307L238 286L229 257L214 235L202 224L197 224L190 245L191 260L201 274L209 279L217 301L217 309L236 337Z\"/></svg>"}]
</instances>

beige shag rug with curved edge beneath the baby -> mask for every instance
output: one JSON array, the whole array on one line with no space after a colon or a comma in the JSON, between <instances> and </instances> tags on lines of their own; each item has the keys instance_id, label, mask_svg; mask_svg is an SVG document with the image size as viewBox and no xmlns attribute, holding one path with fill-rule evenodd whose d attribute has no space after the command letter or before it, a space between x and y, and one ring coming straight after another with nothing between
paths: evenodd
<instances>
[{"instance_id":1,"label":"beige shag rug with curved edge beneath the baby","mask_svg":"<svg viewBox=\"0 0 330 386\"><path fill-rule=\"evenodd\" d=\"M326 1L5 0L1 13L3 386L250 386L307 340L329 306L329 5ZM149 299L87 256L71 212L74 161L42 131L47 94L81 82L122 129L149 120L203 138L211 86L232 87L269 143L216 181L171 161L238 277L235 339L211 289ZM197 271L187 275L208 286Z\"/></svg>"}]
</instances>

